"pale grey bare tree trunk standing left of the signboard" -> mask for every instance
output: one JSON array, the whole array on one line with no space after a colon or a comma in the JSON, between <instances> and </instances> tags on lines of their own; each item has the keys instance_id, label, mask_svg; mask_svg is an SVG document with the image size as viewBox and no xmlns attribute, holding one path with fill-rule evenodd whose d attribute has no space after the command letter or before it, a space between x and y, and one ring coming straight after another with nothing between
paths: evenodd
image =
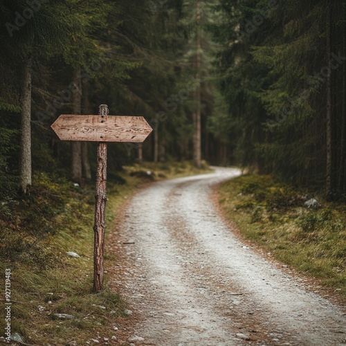
<instances>
[{"instance_id":1,"label":"pale grey bare tree trunk standing left of the signboard","mask_svg":"<svg viewBox=\"0 0 346 346\"><path fill-rule=\"evenodd\" d=\"M23 62L21 90L21 188L31 185L31 57Z\"/></svg>"}]
</instances>

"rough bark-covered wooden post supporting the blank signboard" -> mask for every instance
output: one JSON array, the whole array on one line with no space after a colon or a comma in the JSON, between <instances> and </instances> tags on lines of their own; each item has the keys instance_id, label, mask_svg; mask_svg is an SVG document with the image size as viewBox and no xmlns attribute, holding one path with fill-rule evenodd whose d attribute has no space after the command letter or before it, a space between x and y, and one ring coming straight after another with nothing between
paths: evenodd
<instances>
[{"instance_id":1,"label":"rough bark-covered wooden post supporting the blank signboard","mask_svg":"<svg viewBox=\"0 0 346 346\"><path fill-rule=\"evenodd\" d=\"M99 108L100 122L108 115L107 104L101 104ZM102 136L100 136L102 139ZM98 143L95 190L95 224L94 248L93 248L93 290L101 291L103 286L103 253L104 232L106 230L106 202L107 202L107 143Z\"/></svg>"}]
</instances>

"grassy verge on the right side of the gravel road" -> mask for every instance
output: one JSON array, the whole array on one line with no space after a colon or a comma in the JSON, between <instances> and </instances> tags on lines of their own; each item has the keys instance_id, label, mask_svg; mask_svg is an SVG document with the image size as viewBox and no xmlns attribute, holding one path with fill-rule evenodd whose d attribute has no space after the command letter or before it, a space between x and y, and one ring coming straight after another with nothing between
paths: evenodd
<instances>
[{"instance_id":1,"label":"grassy verge on the right side of the gravel road","mask_svg":"<svg viewBox=\"0 0 346 346\"><path fill-rule=\"evenodd\" d=\"M308 199L270 176L240 176L219 187L219 203L239 232L346 299L346 208Z\"/></svg>"}]
</instances>

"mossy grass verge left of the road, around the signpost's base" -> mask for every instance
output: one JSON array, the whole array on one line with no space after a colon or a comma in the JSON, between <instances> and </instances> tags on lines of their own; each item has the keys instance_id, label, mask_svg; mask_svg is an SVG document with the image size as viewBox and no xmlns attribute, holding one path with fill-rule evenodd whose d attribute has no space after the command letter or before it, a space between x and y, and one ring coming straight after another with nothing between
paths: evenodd
<instances>
[{"instance_id":1,"label":"mossy grass verge left of the road, around the signpost's base","mask_svg":"<svg viewBox=\"0 0 346 346\"><path fill-rule=\"evenodd\" d=\"M201 172L206 170L196 170L190 163L138 165L120 175L110 172L107 225L141 183ZM104 337L111 340L117 318L126 316L125 303L109 289L107 274L104 291L92 292L94 188L42 173L35 175L29 196L6 197L0 203L1 302L4 307L5 273L10 269L11 333L18 333L25 343L87 345L91 339L102 343ZM116 255L105 254L107 267L116 262ZM0 336L5 327L2 314Z\"/></svg>"}]
</instances>

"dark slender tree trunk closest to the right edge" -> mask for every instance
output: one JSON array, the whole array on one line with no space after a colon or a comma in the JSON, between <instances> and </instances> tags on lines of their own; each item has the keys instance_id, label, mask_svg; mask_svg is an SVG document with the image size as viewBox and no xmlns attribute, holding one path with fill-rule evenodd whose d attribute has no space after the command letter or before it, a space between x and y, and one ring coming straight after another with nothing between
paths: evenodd
<instances>
[{"instance_id":1,"label":"dark slender tree trunk closest to the right edge","mask_svg":"<svg viewBox=\"0 0 346 346\"><path fill-rule=\"evenodd\" d=\"M327 25L326 25L326 60L329 61L331 54L331 0L327 1ZM326 65L328 66L328 64ZM327 198L331 197L332 193L332 146L331 146L331 137L332 137L332 125L331 125L331 70L327 75L327 107L326 107L326 145L327 145L327 154L326 154L326 196Z\"/></svg>"}]
</instances>

